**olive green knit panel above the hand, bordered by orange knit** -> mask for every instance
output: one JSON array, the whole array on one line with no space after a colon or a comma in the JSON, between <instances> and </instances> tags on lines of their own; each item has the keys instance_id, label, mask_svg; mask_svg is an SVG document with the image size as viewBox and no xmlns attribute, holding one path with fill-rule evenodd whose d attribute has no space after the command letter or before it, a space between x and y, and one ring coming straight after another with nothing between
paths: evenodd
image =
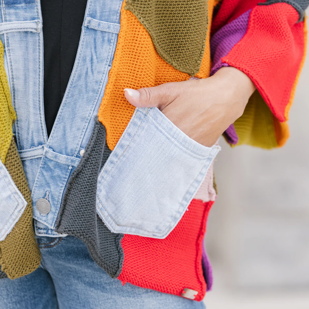
<instances>
[{"instance_id":1,"label":"olive green knit panel above the hand, bordered by orange knit","mask_svg":"<svg viewBox=\"0 0 309 309\"><path fill-rule=\"evenodd\" d=\"M208 29L208 0L127 0L149 32L160 57L194 76L201 66Z\"/></svg>"}]
</instances>

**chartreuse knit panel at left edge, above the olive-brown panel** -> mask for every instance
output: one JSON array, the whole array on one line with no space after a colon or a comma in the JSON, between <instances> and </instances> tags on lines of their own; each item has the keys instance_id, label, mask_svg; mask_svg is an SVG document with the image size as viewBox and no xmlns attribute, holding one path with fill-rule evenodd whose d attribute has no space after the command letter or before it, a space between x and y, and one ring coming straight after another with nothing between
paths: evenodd
<instances>
[{"instance_id":1,"label":"chartreuse knit panel at left edge, above the olive-brown panel","mask_svg":"<svg viewBox=\"0 0 309 309\"><path fill-rule=\"evenodd\" d=\"M11 93L3 61L3 44L0 41L0 158L5 162L12 139L12 123L16 114L11 103Z\"/></svg>"}]
</instances>

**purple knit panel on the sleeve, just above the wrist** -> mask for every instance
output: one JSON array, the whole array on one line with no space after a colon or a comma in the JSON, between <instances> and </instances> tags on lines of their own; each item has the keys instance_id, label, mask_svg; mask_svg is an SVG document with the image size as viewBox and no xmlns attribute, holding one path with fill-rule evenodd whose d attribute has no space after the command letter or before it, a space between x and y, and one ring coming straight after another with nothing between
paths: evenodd
<instances>
[{"instance_id":1,"label":"purple knit panel on the sleeve, just above the wrist","mask_svg":"<svg viewBox=\"0 0 309 309\"><path fill-rule=\"evenodd\" d=\"M210 39L210 55L213 61L210 76L214 75L222 66L229 66L227 63L222 63L221 58L225 57L245 35L250 12L251 10L226 24Z\"/></svg>"}]
</instances>

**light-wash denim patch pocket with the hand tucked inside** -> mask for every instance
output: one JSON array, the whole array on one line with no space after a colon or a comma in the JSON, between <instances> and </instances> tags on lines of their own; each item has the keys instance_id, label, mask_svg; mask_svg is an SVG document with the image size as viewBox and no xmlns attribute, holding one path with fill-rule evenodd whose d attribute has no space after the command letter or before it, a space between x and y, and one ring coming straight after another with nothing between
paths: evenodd
<instances>
[{"instance_id":1,"label":"light-wash denim patch pocket with the hand tucked inside","mask_svg":"<svg viewBox=\"0 0 309 309\"><path fill-rule=\"evenodd\" d=\"M99 174L97 212L114 233L165 238L220 147L205 147L158 108L136 108Z\"/></svg>"}]
</instances>

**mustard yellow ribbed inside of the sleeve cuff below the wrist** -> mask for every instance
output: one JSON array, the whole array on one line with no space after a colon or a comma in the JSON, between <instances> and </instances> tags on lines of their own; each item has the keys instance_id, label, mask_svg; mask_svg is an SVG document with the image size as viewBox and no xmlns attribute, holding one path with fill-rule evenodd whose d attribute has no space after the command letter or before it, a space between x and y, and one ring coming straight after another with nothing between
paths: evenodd
<instances>
[{"instance_id":1,"label":"mustard yellow ribbed inside of the sleeve cuff below the wrist","mask_svg":"<svg viewBox=\"0 0 309 309\"><path fill-rule=\"evenodd\" d=\"M247 144L266 149L278 146L273 114L258 91L253 93L234 126L239 138L237 145Z\"/></svg>"}]
</instances>

